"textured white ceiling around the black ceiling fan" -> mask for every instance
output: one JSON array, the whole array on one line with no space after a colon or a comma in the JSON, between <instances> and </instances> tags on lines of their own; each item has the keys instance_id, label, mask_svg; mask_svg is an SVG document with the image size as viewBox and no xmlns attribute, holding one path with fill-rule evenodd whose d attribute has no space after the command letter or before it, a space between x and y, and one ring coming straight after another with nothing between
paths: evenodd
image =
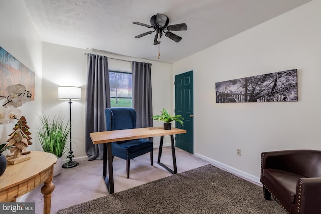
<instances>
[{"instance_id":1,"label":"textured white ceiling around the black ceiling fan","mask_svg":"<svg viewBox=\"0 0 321 214\"><path fill-rule=\"evenodd\" d=\"M158 60L155 33L139 39L157 13L187 31L163 36L161 62L173 63L310 0L22 0L42 41ZM108 55L107 55L108 56Z\"/></svg>"}]
</instances>

